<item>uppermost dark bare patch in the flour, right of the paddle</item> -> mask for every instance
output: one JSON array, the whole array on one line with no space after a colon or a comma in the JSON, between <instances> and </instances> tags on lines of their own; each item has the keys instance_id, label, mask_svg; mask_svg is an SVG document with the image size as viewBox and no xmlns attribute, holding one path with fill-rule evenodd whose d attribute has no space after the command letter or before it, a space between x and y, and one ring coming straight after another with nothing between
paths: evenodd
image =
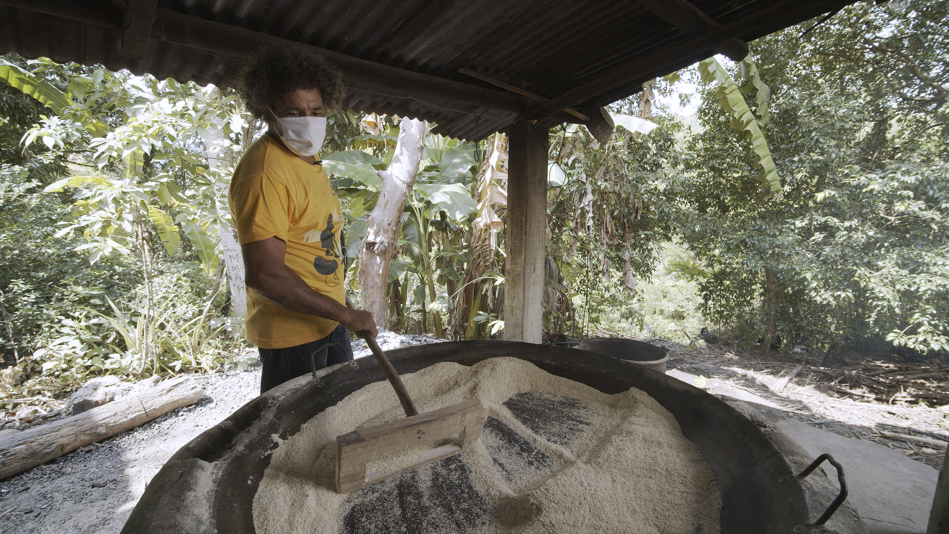
<instances>
[{"instance_id":1,"label":"uppermost dark bare patch in the flour, right of the paddle","mask_svg":"<svg viewBox=\"0 0 949 534\"><path fill-rule=\"evenodd\" d=\"M561 447L568 447L589 428L589 407L553 393L525 391L504 401L504 406L531 432Z\"/></svg>"}]
</instances>

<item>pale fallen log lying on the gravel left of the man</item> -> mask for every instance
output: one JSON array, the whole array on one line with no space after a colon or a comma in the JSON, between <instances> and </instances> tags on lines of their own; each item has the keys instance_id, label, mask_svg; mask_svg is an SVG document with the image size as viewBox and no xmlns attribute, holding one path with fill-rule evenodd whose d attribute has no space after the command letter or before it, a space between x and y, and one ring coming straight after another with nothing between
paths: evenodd
<instances>
[{"instance_id":1,"label":"pale fallen log lying on the gravel left of the man","mask_svg":"<svg viewBox=\"0 0 949 534\"><path fill-rule=\"evenodd\" d=\"M0 436L0 480L101 439L134 429L201 398L195 380L173 378L48 425Z\"/></svg>"}]
</instances>

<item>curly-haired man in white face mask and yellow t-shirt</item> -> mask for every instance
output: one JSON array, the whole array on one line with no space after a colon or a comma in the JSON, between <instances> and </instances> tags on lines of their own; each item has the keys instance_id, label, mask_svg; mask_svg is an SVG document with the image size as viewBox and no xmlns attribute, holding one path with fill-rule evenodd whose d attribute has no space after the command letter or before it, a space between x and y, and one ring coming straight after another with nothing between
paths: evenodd
<instances>
[{"instance_id":1,"label":"curly-haired man in white face mask and yellow t-shirt","mask_svg":"<svg viewBox=\"0 0 949 534\"><path fill-rule=\"evenodd\" d=\"M244 257L245 329L263 363L260 391L352 359L348 331L375 336L372 314L345 297L343 212L321 162L326 108L340 105L340 71L319 54L270 48L237 90L267 133L234 171L229 201ZM312 363L311 363L312 361Z\"/></svg>"}]
</instances>

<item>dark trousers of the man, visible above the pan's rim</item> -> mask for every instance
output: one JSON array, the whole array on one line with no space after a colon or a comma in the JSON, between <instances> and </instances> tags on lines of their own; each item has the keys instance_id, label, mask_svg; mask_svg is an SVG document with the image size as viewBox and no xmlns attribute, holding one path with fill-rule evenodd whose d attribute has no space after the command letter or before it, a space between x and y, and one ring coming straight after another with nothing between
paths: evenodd
<instances>
[{"instance_id":1,"label":"dark trousers of the man, visible above the pan's rim","mask_svg":"<svg viewBox=\"0 0 949 534\"><path fill-rule=\"evenodd\" d=\"M339 343L339 345L333 343ZM257 351L260 352L260 361L264 364L260 375L261 393L291 378L312 372L314 367L323 369L353 359L349 333L343 325L336 325L336 329L323 339L286 349L257 349ZM310 363L311 357L312 363Z\"/></svg>"}]
</instances>

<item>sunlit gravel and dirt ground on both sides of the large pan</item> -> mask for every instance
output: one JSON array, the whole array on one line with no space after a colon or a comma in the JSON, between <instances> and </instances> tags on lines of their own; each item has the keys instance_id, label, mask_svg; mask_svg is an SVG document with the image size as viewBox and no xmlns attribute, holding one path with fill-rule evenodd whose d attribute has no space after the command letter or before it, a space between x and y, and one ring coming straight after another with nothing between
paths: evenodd
<instances>
[{"instance_id":1,"label":"sunlit gravel and dirt ground on both sides of the large pan","mask_svg":"<svg viewBox=\"0 0 949 534\"><path fill-rule=\"evenodd\" d=\"M383 350L431 341L418 335L382 333L380 337ZM715 346L685 349L650 341L669 350L670 369L696 374L701 377L698 382L727 383L768 399L818 428L872 440L941 468L949 444L944 410L949 409L920 403L921 398L928 398L936 405L940 395L949 391L949 370L938 362L841 361L824 366L809 353L760 356ZM357 356L366 353L357 350ZM0 481L0 532L120 532L164 462L256 396L260 372L258 368L231 369L195 379L204 386L204 397L195 405ZM891 389L881 389L880 384ZM37 424L35 418L32 421L0 420L0 426L22 429Z\"/></svg>"}]
</instances>

